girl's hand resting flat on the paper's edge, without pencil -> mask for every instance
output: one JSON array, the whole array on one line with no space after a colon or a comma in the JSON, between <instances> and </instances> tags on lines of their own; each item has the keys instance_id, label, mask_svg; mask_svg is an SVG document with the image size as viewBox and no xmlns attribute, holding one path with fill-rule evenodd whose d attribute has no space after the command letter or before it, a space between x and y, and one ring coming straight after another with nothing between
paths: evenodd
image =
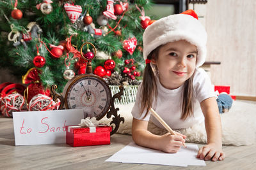
<instances>
[{"instance_id":1,"label":"girl's hand resting flat on the paper's edge, without pencil","mask_svg":"<svg viewBox=\"0 0 256 170\"><path fill-rule=\"evenodd\" d=\"M199 159L216 161L225 159L225 153L221 150L220 146L209 143L198 150L196 157Z\"/></svg>"}]
</instances>

